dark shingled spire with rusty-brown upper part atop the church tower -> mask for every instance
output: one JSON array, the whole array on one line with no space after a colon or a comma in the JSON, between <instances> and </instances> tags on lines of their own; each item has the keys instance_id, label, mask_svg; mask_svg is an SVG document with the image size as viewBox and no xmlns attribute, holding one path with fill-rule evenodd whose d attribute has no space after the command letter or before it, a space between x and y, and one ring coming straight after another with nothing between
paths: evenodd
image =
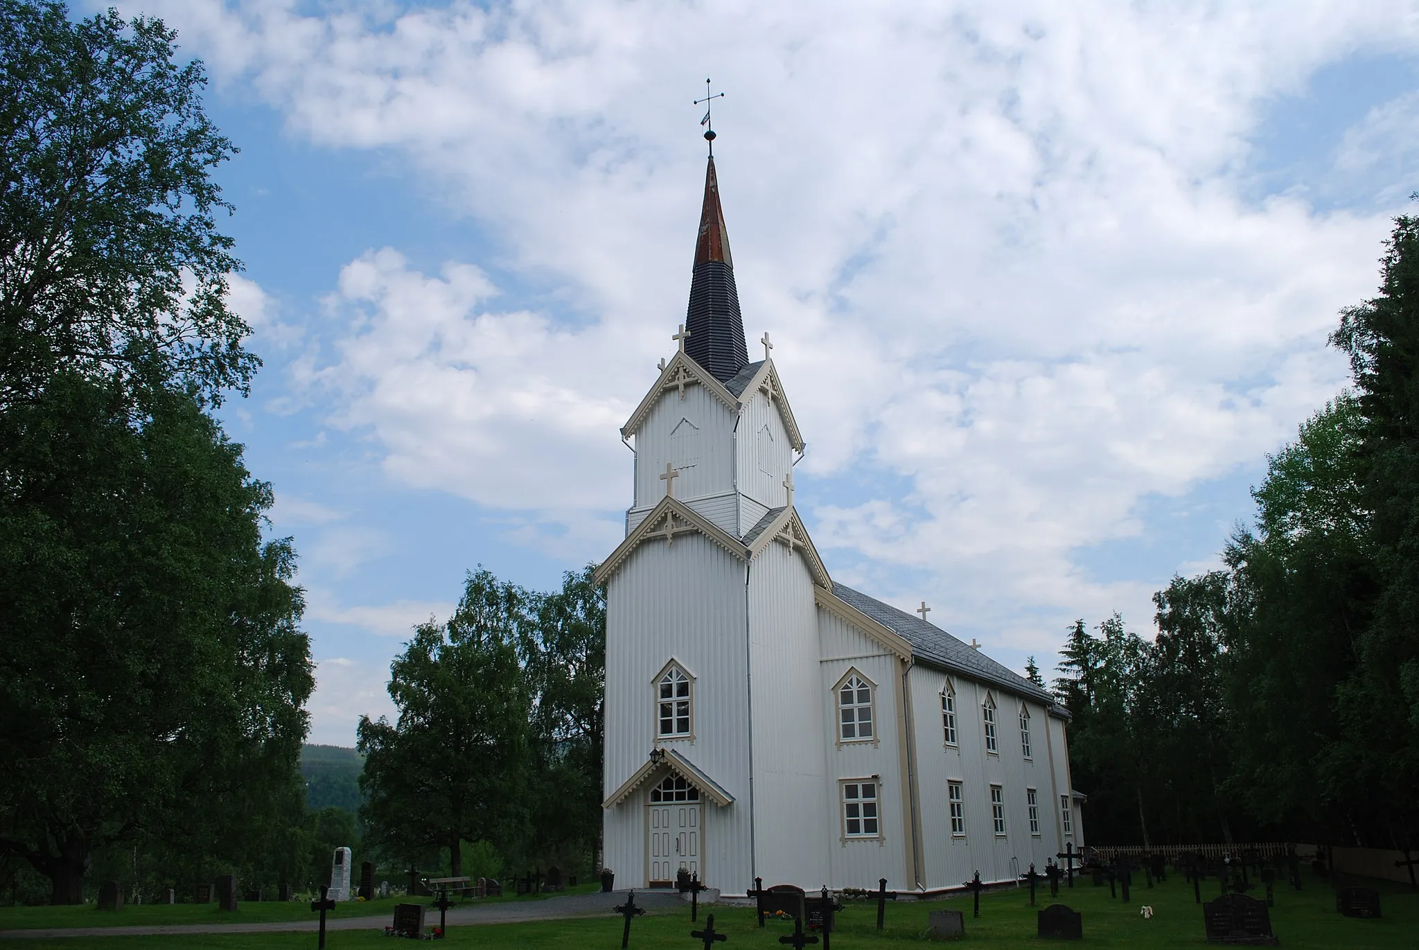
<instances>
[{"instance_id":1,"label":"dark shingled spire with rusty-brown upper part atop the church tower","mask_svg":"<svg viewBox=\"0 0 1419 950\"><path fill-rule=\"evenodd\" d=\"M695 243L695 270L690 281L690 308L685 312L685 355L710 371L719 382L734 379L749 365L744 342L744 318L739 317L739 291L734 285L734 258L729 257L729 233L719 207L719 182L714 176L714 156L705 172L705 203L700 213L700 240Z\"/></svg>"}]
</instances>

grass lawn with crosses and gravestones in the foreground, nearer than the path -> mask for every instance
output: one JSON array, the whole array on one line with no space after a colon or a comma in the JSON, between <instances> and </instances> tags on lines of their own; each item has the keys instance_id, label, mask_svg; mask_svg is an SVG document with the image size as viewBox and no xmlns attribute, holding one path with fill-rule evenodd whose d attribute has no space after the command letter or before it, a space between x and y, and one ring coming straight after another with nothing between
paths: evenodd
<instances>
[{"instance_id":1,"label":"grass lawn with crosses and gravestones in the foreground, nearer than the path","mask_svg":"<svg viewBox=\"0 0 1419 950\"><path fill-rule=\"evenodd\" d=\"M1206 882L1203 899L1216 896L1216 880ZM1334 947L1362 949L1406 949L1419 946L1419 895L1409 888L1371 882L1381 890L1384 907L1382 920L1352 920L1335 912L1335 899L1328 885L1307 880L1305 890L1279 889L1276 907L1271 909L1271 927L1281 939L1283 947L1330 950ZM1044 890L1047 895L1047 889ZM1094 947L1203 947L1202 909L1192 900L1192 888L1181 879L1169 879L1154 890L1137 888L1134 900L1124 905L1110 900L1108 888L1094 888L1076 882L1073 892L1061 889L1060 899L1084 913L1084 946ZM1039 902L1043 907L1047 899ZM1144 920L1138 907L1151 905L1155 916ZM922 941L927 929L927 913L937 907L964 909L966 913L966 939L964 943L979 947L1040 947L1034 937L1034 913L1029 907L1029 895L1020 890L988 893L981 897L981 919L971 919L969 897L952 897L941 902L888 903L887 929L881 937L876 932L876 905L870 902L849 903L839 914L839 929L833 944L841 950L853 947L883 946L888 943ZM714 910L715 926L729 936L725 950L735 947L758 947L769 950L779 947L778 937L790 933L785 923L771 922L768 927L755 927L753 910L744 907L710 907ZM437 914L433 916L437 920ZM647 914L631 924L633 950L656 947L678 947L694 950L697 941L690 939L690 910L673 914ZM13 944L14 946L14 944ZM180 937L84 937L45 940L45 950L123 950L125 947L203 947L211 950L243 950L247 947L304 947L315 946L314 933L260 933L260 934L192 934ZM377 932L332 932L326 946L331 950L356 950L385 947L392 944ZM400 946L400 944L393 944ZM620 919L549 920L545 923L517 924L468 924L450 927L444 946L478 947L499 950L528 947L548 950L580 950L582 947L614 950L620 946ZM884 949L885 950L885 949Z\"/></svg>"}]
</instances>

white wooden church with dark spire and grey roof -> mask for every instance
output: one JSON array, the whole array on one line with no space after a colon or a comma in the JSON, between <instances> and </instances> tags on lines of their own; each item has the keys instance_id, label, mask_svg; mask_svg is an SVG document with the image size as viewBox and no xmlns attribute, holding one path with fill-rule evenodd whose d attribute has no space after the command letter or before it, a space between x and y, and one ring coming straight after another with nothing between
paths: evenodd
<instances>
[{"instance_id":1,"label":"white wooden church with dark spire and grey roof","mask_svg":"<svg viewBox=\"0 0 1419 950\"><path fill-rule=\"evenodd\" d=\"M929 623L833 581L793 504L803 436L749 362L714 156L678 352L622 429L606 584L604 865L900 890L1007 880L1083 845L1067 714Z\"/></svg>"}]
</instances>

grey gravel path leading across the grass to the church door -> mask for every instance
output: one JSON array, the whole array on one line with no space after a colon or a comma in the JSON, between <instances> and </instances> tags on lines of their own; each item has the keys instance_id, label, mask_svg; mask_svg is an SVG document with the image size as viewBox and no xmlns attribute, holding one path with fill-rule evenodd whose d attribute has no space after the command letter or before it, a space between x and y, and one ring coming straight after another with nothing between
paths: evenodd
<instances>
[{"instance_id":1,"label":"grey gravel path leading across the grass to the church door","mask_svg":"<svg viewBox=\"0 0 1419 950\"><path fill-rule=\"evenodd\" d=\"M467 923L521 923L524 920L565 920L568 917L610 916L613 907L626 900L624 890L612 893L565 895L546 900L518 900L507 903L465 905L448 910L448 926ZM684 909L678 893L667 890L637 890L636 903L647 912ZM326 930L382 930L393 917L328 917ZM437 924L438 912L430 910L424 923ZM315 914L309 920L275 923L182 923L152 927L44 927L31 930L0 930L0 940L20 937L158 937L183 933L274 933L280 930L316 930Z\"/></svg>"}]
</instances>

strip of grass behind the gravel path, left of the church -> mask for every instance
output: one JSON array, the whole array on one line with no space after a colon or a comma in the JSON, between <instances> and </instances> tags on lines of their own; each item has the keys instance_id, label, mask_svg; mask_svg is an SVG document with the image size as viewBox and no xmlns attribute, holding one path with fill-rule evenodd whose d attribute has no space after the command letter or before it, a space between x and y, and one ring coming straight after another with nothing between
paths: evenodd
<instances>
[{"instance_id":1,"label":"strip of grass behind the gravel path, left of the church","mask_svg":"<svg viewBox=\"0 0 1419 950\"><path fill-rule=\"evenodd\" d=\"M600 885L579 885L562 893L590 893ZM471 903L504 903L525 900L546 900L552 895L502 897L480 897ZM394 905L404 897L389 897L370 902L341 902L331 912L333 917L394 917ZM427 902L427 897L420 897ZM463 905L460 905L463 906ZM312 920L311 905L301 900L244 900L237 903L236 913L224 913L213 903L176 905L126 905L118 913L102 913L94 905L68 907L0 907L0 930L24 930L31 927L140 927L170 923L268 923L280 920Z\"/></svg>"}]
</instances>

